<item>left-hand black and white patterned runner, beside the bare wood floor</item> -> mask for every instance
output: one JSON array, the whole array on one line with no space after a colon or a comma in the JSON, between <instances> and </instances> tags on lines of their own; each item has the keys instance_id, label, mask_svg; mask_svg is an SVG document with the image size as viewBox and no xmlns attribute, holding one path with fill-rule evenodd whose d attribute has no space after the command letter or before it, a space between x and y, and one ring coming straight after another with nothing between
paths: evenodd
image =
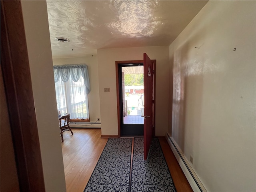
<instances>
[{"instance_id":1,"label":"left-hand black and white patterned runner, beside the bare wood floor","mask_svg":"<svg viewBox=\"0 0 256 192\"><path fill-rule=\"evenodd\" d=\"M84 192L128 192L131 152L131 138L109 138Z\"/></svg>"}]
</instances>

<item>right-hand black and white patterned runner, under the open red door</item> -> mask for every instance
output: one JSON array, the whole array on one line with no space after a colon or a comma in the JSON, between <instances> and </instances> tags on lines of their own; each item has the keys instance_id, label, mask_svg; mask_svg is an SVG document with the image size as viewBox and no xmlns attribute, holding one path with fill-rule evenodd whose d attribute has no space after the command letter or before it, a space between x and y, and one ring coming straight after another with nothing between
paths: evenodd
<instances>
[{"instance_id":1,"label":"right-hand black and white patterned runner, under the open red door","mask_svg":"<svg viewBox=\"0 0 256 192\"><path fill-rule=\"evenodd\" d=\"M158 138L152 140L144 161L144 140L134 139L131 192L176 192Z\"/></svg>"}]
</instances>

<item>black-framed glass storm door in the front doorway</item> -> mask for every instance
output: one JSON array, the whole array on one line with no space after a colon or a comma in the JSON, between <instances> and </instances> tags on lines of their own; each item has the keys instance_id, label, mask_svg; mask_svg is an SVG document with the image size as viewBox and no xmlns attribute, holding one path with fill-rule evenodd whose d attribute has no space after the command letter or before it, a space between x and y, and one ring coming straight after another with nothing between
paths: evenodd
<instances>
[{"instance_id":1,"label":"black-framed glass storm door in the front doorway","mask_svg":"<svg viewBox=\"0 0 256 192\"><path fill-rule=\"evenodd\" d=\"M120 136L144 134L144 67L118 64Z\"/></svg>"}]
</instances>

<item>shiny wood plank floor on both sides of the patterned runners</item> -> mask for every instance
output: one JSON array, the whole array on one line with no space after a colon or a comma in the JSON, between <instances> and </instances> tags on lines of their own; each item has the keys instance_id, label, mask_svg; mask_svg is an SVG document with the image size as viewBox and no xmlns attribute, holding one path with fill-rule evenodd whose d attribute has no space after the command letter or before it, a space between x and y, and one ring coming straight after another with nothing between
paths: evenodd
<instances>
[{"instance_id":1,"label":"shiny wood plank floor on both sides of the patterned runners","mask_svg":"<svg viewBox=\"0 0 256 192\"><path fill-rule=\"evenodd\" d=\"M63 133L62 153L66 190L83 192L108 139L100 138L99 128L73 128L72 131L74 135L68 131ZM159 138L159 141L177 192L192 192L165 138Z\"/></svg>"}]
</instances>

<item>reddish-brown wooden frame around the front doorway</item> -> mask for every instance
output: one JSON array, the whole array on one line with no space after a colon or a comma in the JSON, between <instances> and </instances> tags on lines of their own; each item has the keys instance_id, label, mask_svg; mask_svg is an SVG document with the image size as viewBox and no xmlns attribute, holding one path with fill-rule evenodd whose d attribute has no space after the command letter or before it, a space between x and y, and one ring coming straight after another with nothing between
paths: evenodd
<instances>
[{"instance_id":1,"label":"reddish-brown wooden frame around the front doorway","mask_svg":"<svg viewBox=\"0 0 256 192\"><path fill-rule=\"evenodd\" d=\"M153 95L154 95L154 109L153 109L153 137L156 134L156 60L152 60L154 63L153 73L154 73L154 87L153 87ZM120 115L120 84L119 84L119 66L125 66L127 64L143 64L143 60L130 60L130 61L116 61L116 101L117 101L117 121L118 121L118 137L121 137L121 115Z\"/></svg>"}]
</instances>

